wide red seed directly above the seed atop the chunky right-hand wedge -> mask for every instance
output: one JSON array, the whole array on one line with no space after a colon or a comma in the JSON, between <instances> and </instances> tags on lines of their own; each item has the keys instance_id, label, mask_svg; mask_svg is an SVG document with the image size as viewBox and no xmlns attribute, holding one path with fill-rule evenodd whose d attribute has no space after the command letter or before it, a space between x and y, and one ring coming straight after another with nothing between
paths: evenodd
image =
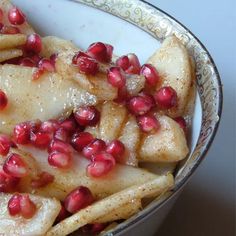
<instances>
[{"instance_id":1,"label":"wide red seed directly above the seed atop the chunky right-hand wedge","mask_svg":"<svg viewBox=\"0 0 236 236\"><path fill-rule=\"evenodd\" d=\"M144 115L154 106L154 101L149 95L139 95L131 98L128 102L130 112L135 115Z\"/></svg>"}]
</instances>

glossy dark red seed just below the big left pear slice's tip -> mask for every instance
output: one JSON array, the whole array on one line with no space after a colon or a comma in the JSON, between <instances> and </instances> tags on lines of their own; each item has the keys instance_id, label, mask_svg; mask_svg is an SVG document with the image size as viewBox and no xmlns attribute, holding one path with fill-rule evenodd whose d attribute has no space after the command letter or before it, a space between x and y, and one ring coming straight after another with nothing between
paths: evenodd
<instances>
[{"instance_id":1,"label":"glossy dark red seed just below the big left pear slice's tip","mask_svg":"<svg viewBox=\"0 0 236 236\"><path fill-rule=\"evenodd\" d=\"M94 106L85 106L78 108L74 117L81 126L95 126L100 119L100 112Z\"/></svg>"}]
</instances>

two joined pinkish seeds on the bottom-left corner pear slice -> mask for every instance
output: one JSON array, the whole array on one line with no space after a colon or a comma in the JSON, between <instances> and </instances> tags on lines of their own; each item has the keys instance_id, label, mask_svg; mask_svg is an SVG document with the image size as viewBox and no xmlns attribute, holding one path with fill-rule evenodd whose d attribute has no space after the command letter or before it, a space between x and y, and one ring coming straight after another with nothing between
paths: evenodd
<instances>
[{"instance_id":1,"label":"two joined pinkish seeds on the bottom-left corner pear slice","mask_svg":"<svg viewBox=\"0 0 236 236\"><path fill-rule=\"evenodd\" d=\"M8 201L8 211L11 216L21 215L30 219L35 215L37 207L29 195L16 193Z\"/></svg>"}]
</instances>

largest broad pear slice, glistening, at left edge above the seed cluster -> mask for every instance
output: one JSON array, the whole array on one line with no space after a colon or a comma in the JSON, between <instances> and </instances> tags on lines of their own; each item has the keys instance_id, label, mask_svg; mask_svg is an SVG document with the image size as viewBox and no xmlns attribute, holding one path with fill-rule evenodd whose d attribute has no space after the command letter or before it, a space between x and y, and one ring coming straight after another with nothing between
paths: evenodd
<instances>
[{"instance_id":1,"label":"largest broad pear slice, glistening, at left edge above the seed cluster","mask_svg":"<svg viewBox=\"0 0 236 236\"><path fill-rule=\"evenodd\" d=\"M32 81L34 68L0 65L0 89L8 106L0 111L0 132L11 133L15 124L28 120L48 120L69 114L74 107L96 104L96 97L73 80L45 73Z\"/></svg>"}]
</instances>

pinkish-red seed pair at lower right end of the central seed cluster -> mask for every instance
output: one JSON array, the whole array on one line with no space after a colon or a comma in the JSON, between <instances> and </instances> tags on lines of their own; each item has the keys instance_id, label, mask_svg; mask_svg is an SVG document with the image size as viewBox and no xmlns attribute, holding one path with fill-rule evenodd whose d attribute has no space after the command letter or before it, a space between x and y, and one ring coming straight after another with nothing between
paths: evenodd
<instances>
[{"instance_id":1,"label":"pinkish-red seed pair at lower right end of the central seed cluster","mask_svg":"<svg viewBox=\"0 0 236 236\"><path fill-rule=\"evenodd\" d=\"M87 174L91 177L101 177L109 173L115 166L115 158L108 152L100 152L92 156L92 162L87 166Z\"/></svg>"}]
</instances>

